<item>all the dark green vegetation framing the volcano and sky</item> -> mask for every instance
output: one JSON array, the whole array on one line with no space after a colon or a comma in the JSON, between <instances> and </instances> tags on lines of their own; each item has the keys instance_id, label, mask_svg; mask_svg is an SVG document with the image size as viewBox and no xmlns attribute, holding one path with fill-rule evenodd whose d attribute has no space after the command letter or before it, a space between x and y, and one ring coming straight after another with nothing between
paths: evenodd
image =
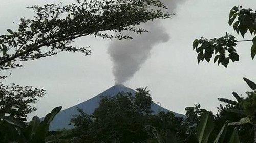
<instances>
[{"instance_id":1,"label":"all the dark green vegetation framing the volcano and sky","mask_svg":"<svg viewBox=\"0 0 256 143\"><path fill-rule=\"evenodd\" d=\"M20 67L19 61L35 60L55 55L61 51L90 54L87 47L73 47L74 39L87 35L102 38L130 39L122 31L146 32L137 28L141 22L170 18L161 9L166 7L157 0L144 1L96 1L77 0L77 4L29 7L34 10L34 19L20 20L18 31L8 29L9 35L0 36L0 70ZM238 18L237 18L238 17ZM236 21L237 18L237 21ZM256 35L256 13L251 9L233 7L229 25L244 37L249 30ZM103 34L112 30L116 35ZM256 55L256 37L252 40L252 59ZM193 47L198 53L198 62L210 61L227 67L229 60L239 60L234 47L236 38L228 33L214 39L196 39ZM45 49L43 49L45 48ZM228 56L226 53L229 53ZM0 79L7 78L2 76ZM219 98L226 103L218 107L218 114L201 109L200 104L187 107L187 118L177 118L171 112L152 115L152 98L148 90L138 88L131 93L118 93L102 97L99 107L92 115L78 109L74 115L72 130L49 132L50 122L61 110L54 108L40 121L34 116L26 122L28 113L36 110L31 103L44 95L44 90L30 86L0 85L0 141L1 142L256 142L256 84L244 78L253 90L247 97L236 92L237 101Z\"/></svg>"}]
</instances>

